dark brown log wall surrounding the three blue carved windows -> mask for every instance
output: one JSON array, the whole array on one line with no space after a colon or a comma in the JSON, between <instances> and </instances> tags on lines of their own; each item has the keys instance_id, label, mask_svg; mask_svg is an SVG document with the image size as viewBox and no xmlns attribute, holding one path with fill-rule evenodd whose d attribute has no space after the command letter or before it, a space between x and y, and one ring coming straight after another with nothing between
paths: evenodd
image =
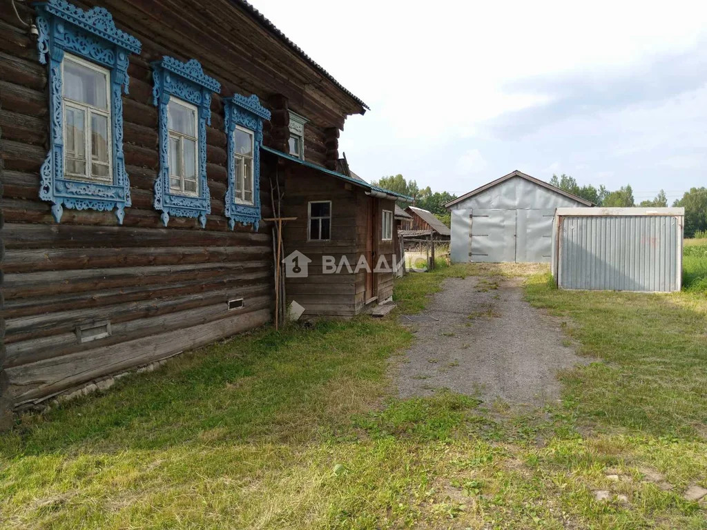
<instances>
[{"instance_id":1,"label":"dark brown log wall surrounding the three blue carved windows","mask_svg":"<svg viewBox=\"0 0 707 530\"><path fill-rule=\"evenodd\" d=\"M206 345L271 318L271 228L262 223L257 232L250 227L231 232L223 216L226 134L220 96L212 100L211 126L206 131L211 192L206 229L190 218L172 218L164 228L160 213L153 209L158 117L151 104L150 61L165 54L182 60L194 57L221 82L222 95L256 93L264 105L276 83L281 83L281 93L298 98L297 112L309 114L305 153L315 163L326 162L331 136L327 129L343 126L346 117L325 95L316 101L303 97L311 74L298 73L301 68L296 61L295 73L267 71L258 66L255 54L217 57L215 49L231 55L238 49L223 45L223 34L207 29L208 25L198 28L201 33L194 37L180 33L187 25L192 28L189 35L194 33L199 17L189 16L192 10L214 27L230 25L228 38L243 40L248 35L267 41L259 50L266 45L281 47L245 19L233 15L218 20L216 11L203 13L189 1L100 4L143 44L141 56L130 58L130 94L123 98L124 155L133 204L126 209L122 226L112 212L68 208L57 224L50 204L38 199L39 169L49 148L46 68L37 60L35 42L19 27L12 10L0 10L0 163L4 165L0 166L4 184L0 208L5 221L0 246L4 247L0 329L5 333L0 397L9 397L15 406ZM221 6L235 10L229 2ZM19 8L23 18L30 18L29 8L24 4ZM241 23L243 32L233 27ZM214 42L220 42L218 48ZM247 42L238 44L247 47ZM267 57L258 60L264 64ZM263 217L272 213L270 177L264 165ZM355 229L349 226L346 230ZM229 312L227 300L240 297L245 298L245 307ZM110 320L111 336L78 342L77 325L103 320ZM2 401L0 418L1 405Z\"/></svg>"}]
</instances>

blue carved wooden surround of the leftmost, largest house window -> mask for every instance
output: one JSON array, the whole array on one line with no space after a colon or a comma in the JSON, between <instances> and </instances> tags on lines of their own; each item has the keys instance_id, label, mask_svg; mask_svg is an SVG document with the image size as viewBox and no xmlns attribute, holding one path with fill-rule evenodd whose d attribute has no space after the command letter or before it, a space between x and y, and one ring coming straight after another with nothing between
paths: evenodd
<instances>
[{"instance_id":1,"label":"blue carved wooden surround of the leftmost, largest house window","mask_svg":"<svg viewBox=\"0 0 707 530\"><path fill-rule=\"evenodd\" d=\"M40 170L40 199L53 203L59 223L64 207L110 211L122 225L124 209L132 204L130 182L123 156L123 100L128 93L128 56L139 54L141 42L115 27L102 7L84 11L66 0L34 4L37 8L37 50L42 64L49 64L49 153ZM110 71L110 121L112 128L112 183L86 182L64 177L64 111L62 62L69 52ZM47 59L49 59L47 61Z\"/></svg>"}]
</instances>

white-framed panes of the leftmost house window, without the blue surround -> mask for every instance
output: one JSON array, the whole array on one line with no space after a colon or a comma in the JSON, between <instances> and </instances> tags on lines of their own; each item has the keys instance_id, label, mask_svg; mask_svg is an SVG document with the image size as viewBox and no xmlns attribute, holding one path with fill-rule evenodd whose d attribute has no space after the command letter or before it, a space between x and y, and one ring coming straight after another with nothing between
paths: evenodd
<instances>
[{"instance_id":1,"label":"white-framed panes of the leftmost house window, without the blue surround","mask_svg":"<svg viewBox=\"0 0 707 530\"><path fill-rule=\"evenodd\" d=\"M64 176L112 182L110 71L64 54Z\"/></svg>"}]
</instances>

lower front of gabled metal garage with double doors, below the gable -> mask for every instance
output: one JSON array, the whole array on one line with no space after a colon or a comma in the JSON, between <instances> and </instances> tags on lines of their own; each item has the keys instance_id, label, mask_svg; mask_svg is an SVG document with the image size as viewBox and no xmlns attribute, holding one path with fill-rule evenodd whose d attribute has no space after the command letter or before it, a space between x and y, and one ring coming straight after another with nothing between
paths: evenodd
<instances>
[{"instance_id":1,"label":"lower front of gabled metal garage with double doors, below the gable","mask_svg":"<svg viewBox=\"0 0 707 530\"><path fill-rule=\"evenodd\" d=\"M550 261L553 216L554 208L452 211L452 261Z\"/></svg>"}]
</instances>

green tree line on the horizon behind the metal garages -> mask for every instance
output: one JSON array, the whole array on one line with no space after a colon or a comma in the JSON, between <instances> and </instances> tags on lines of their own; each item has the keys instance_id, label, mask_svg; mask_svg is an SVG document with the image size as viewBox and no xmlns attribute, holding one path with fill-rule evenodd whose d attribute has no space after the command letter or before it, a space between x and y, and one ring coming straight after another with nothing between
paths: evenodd
<instances>
[{"instance_id":1,"label":"green tree line on the horizon behind the metal garages","mask_svg":"<svg viewBox=\"0 0 707 530\"><path fill-rule=\"evenodd\" d=\"M392 192L411 196L414 199L414 206L431 211L437 218L443 221L446 225L450 224L450 213L444 207L446 203L456 199L457 196L449 192L432 192L430 187L420 189L417 182L407 180L402 175L390 175L390 177L382 177L377 182L372 182L374 186L390 189ZM633 198L633 189L631 184L621 186L619 189L610 191L603 185L598 188L592 184L580 186L577 180L570 175L552 175L550 184L559 189L563 189L573 195L590 201L597 206L612 207L612 208L630 208L632 206L641 206L643 208L665 208L667 207L667 196L661 189L654 199L641 201L636 204ZM405 208L407 204L398 204L401 208ZM695 232L707 230L707 188L691 188L689 192L685 192L681 199L674 201L672 206L682 206L685 208L685 237L694 237Z\"/></svg>"}]
</instances>

